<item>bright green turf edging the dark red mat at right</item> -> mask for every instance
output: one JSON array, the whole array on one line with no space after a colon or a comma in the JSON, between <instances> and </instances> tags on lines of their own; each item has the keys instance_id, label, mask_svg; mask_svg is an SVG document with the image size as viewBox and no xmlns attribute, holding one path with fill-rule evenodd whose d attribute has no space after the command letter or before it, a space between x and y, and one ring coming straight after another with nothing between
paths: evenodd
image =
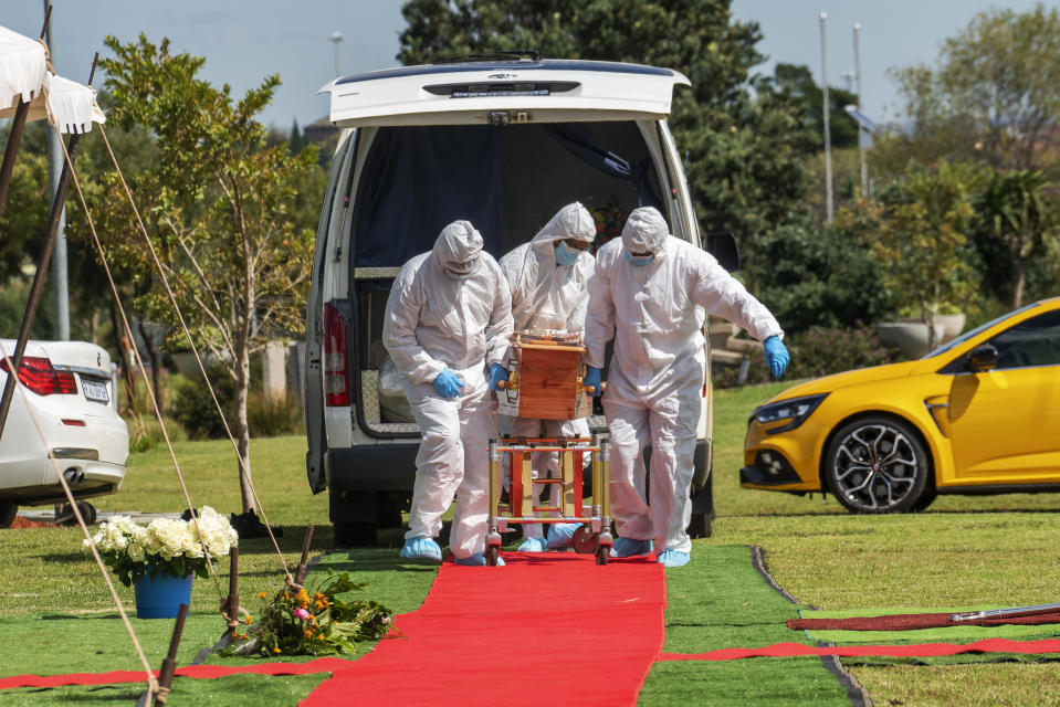
<instances>
[{"instance_id":1,"label":"bright green turf edging the dark red mat at right","mask_svg":"<svg viewBox=\"0 0 1060 707\"><path fill-rule=\"evenodd\" d=\"M997 606L961 606L949 610L935 609L856 609L846 611L799 611L801 619L851 619L856 616L883 616L889 614L933 614L947 612L983 611ZM937 626L910 631L852 631L846 629L807 629L806 637L818 643L857 645L859 643L970 643L984 639L1011 639L1030 641L1060 637L1060 624L1004 624L997 626Z\"/></svg>"}]
</instances>

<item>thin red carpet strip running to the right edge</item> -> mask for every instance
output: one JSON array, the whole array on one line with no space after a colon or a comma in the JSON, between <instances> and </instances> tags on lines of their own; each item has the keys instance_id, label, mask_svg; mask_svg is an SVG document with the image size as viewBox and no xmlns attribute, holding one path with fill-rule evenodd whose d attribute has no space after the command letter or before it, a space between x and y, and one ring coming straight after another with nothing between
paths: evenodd
<instances>
[{"instance_id":1,"label":"thin red carpet strip running to the right edge","mask_svg":"<svg viewBox=\"0 0 1060 707\"><path fill-rule=\"evenodd\" d=\"M974 643L920 643L913 645L833 645L812 646L802 643L774 643L760 648L721 648L706 653L663 653L660 661L733 661L736 658L785 657L791 655L891 655L930 657L958 653L1060 653L1060 641L1009 641L987 639Z\"/></svg>"}]
</instances>

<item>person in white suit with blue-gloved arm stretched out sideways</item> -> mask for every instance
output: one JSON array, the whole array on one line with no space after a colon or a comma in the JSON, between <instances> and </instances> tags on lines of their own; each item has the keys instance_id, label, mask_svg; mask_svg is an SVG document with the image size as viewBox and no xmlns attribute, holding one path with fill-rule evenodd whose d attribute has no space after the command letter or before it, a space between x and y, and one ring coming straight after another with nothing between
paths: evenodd
<instances>
[{"instance_id":1,"label":"person in white suit with blue-gloved arm stretched out sideways","mask_svg":"<svg viewBox=\"0 0 1060 707\"><path fill-rule=\"evenodd\" d=\"M611 433L611 513L620 538L613 557L648 555L686 564L685 529L695 430L703 387L704 310L734 321L765 344L775 378L788 352L769 310L709 253L669 233L651 207L636 209L615 239L597 251L586 320L586 386L600 389L605 345L613 337L604 412ZM651 444L651 481L644 500L641 461Z\"/></svg>"}]
</instances>

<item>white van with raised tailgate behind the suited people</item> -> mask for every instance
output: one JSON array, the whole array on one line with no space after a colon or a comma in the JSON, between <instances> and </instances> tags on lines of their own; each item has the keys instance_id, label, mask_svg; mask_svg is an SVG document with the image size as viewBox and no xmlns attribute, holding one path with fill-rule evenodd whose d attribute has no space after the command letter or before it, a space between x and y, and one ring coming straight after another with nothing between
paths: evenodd
<instances>
[{"instance_id":1,"label":"white van with raised tailgate behind the suited people","mask_svg":"<svg viewBox=\"0 0 1060 707\"><path fill-rule=\"evenodd\" d=\"M689 80L669 68L531 51L322 88L342 134L307 304L306 471L313 492L329 494L337 545L374 545L409 506L419 430L380 340L382 313L401 265L445 224L471 221L500 258L571 201L621 214L654 205L671 233L703 244L667 127L675 85ZM732 236L711 242L732 267ZM693 537L710 535L713 515L710 384L703 397Z\"/></svg>"}]
</instances>

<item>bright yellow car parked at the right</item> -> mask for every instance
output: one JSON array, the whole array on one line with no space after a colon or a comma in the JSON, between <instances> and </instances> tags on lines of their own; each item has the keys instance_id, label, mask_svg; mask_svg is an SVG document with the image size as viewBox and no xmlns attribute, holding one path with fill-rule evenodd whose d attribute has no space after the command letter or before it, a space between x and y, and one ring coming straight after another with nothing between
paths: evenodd
<instances>
[{"instance_id":1,"label":"bright yellow car parked at the right","mask_svg":"<svg viewBox=\"0 0 1060 707\"><path fill-rule=\"evenodd\" d=\"M915 361L789 388L752 414L744 464L744 488L829 492L854 513L1060 490L1060 297Z\"/></svg>"}]
</instances>

